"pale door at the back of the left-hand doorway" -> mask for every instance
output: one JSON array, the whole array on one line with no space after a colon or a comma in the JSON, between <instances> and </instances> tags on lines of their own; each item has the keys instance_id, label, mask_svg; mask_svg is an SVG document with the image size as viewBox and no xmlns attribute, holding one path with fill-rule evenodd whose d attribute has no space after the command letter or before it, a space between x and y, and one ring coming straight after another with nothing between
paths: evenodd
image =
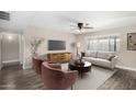
<instances>
[{"instance_id":1,"label":"pale door at the back of the left-hand doorway","mask_svg":"<svg viewBox=\"0 0 136 102\"><path fill-rule=\"evenodd\" d=\"M19 61L20 47L18 34L2 34L2 63Z\"/></svg>"}]
</instances>

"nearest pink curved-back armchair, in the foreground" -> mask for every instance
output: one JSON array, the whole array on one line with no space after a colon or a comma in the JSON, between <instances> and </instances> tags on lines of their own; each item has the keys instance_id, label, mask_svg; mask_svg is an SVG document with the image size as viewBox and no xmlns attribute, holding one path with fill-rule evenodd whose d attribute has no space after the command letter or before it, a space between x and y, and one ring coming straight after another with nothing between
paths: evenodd
<instances>
[{"instance_id":1,"label":"nearest pink curved-back armchair, in the foreground","mask_svg":"<svg viewBox=\"0 0 136 102\"><path fill-rule=\"evenodd\" d=\"M47 89L64 90L72 88L78 78L78 71L63 71L60 66L53 66L47 61L42 64L42 80Z\"/></svg>"}]
</instances>

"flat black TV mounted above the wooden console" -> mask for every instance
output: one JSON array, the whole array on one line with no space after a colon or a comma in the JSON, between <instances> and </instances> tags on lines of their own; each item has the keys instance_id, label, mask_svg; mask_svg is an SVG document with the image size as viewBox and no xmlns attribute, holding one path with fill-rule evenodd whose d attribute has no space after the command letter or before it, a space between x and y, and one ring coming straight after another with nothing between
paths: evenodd
<instances>
[{"instance_id":1,"label":"flat black TV mounted above the wooden console","mask_svg":"<svg viewBox=\"0 0 136 102\"><path fill-rule=\"evenodd\" d=\"M48 41L48 50L65 50L66 42L65 41Z\"/></svg>"}]
</instances>

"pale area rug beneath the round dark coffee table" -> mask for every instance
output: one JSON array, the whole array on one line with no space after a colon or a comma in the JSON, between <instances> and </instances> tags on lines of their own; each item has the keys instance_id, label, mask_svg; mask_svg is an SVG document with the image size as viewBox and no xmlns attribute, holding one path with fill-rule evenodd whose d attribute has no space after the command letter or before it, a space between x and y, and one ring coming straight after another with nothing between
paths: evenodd
<instances>
[{"instance_id":1,"label":"pale area rug beneath the round dark coffee table","mask_svg":"<svg viewBox=\"0 0 136 102\"><path fill-rule=\"evenodd\" d=\"M68 70L67 64L63 65L63 70ZM79 76L78 80L73 84L73 90L97 90L105 80L116 71L92 66L91 71L83 73L82 78Z\"/></svg>"}]
</instances>

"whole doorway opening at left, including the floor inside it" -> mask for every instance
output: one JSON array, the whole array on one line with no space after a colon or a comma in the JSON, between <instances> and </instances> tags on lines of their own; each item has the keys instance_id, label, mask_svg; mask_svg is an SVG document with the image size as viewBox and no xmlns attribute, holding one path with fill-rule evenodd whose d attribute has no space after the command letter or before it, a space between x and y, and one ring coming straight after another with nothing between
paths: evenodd
<instances>
[{"instance_id":1,"label":"whole doorway opening at left, including the floor inside it","mask_svg":"<svg viewBox=\"0 0 136 102\"><path fill-rule=\"evenodd\" d=\"M1 39L2 70L22 69L21 66L21 34L2 33Z\"/></svg>"}]
</instances>

